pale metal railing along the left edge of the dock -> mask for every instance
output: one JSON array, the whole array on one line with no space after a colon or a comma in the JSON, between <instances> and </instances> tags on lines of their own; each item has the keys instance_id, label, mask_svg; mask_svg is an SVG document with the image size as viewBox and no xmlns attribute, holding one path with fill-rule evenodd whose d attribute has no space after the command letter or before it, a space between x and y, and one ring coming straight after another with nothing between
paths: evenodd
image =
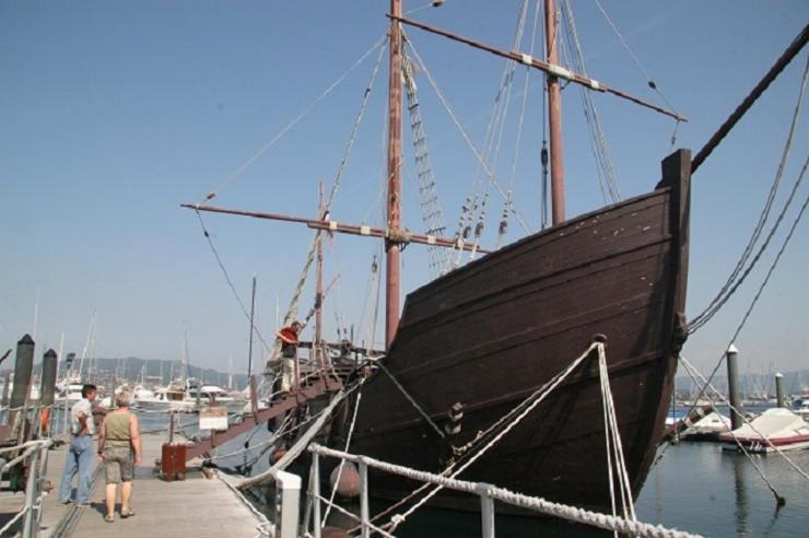
<instances>
[{"instance_id":1,"label":"pale metal railing along the left edge of the dock","mask_svg":"<svg viewBox=\"0 0 809 538\"><path fill-rule=\"evenodd\" d=\"M11 457L0 468L0 478L15 466L27 468L25 482L25 501L23 507L2 528L0 536L11 536L11 529L22 519L20 533L23 538L38 535L42 521L45 473L48 468L48 448L54 444L50 438L28 441L15 446L0 448L0 458ZM16 455L15 455L16 454Z\"/></svg>"}]
</instances>

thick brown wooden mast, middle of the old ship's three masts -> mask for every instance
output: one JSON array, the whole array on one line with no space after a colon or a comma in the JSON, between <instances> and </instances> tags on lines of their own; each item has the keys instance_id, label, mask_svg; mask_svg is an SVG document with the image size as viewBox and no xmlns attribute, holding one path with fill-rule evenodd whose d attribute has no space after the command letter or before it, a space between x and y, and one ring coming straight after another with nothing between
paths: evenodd
<instances>
[{"instance_id":1,"label":"thick brown wooden mast, middle of the old ship's three masts","mask_svg":"<svg viewBox=\"0 0 809 538\"><path fill-rule=\"evenodd\" d=\"M401 0L390 0L390 13L401 16ZM387 229L399 231L401 214L401 26L390 20L390 72L388 79L388 215ZM388 238L386 250L385 348L390 348L399 326L399 244Z\"/></svg>"}]
</instances>

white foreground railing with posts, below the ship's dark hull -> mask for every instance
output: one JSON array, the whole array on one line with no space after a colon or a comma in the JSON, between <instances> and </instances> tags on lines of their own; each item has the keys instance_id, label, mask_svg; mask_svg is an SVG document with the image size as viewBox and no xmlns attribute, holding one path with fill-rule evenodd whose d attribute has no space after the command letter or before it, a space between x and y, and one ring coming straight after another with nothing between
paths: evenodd
<instances>
[{"instance_id":1,"label":"white foreground railing with posts, below the ship's dark hull","mask_svg":"<svg viewBox=\"0 0 809 538\"><path fill-rule=\"evenodd\" d=\"M570 506L566 504L554 503L542 498L524 495L515 493L504 488L483 482L470 482L457 480L432 472L420 471L399 465L388 464L367 456L359 456L341 451L335 451L310 444L308 451L312 453L312 469L309 479L309 498L312 500L312 530L304 529L308 536L320 538L323 521L320 517L320 503L333 507L342 514L356 521L363 538L371 536L371 533L377 533L382 536L392 537L390 530L399 525L401 516L395 515L389 523L376 525L370 515L368 503L368 468L383 472L398 475L400 477L420 482L431 483L436 487L447 488L450 490L478 495L481 506L481 536L483 538L494 538L494 501L499 501L518 508L528 510L543 514L546 516L556 517L582 525L611 530L613 533L626 534L630 536L648 537L648 538L694 538L699 535L684 533L677 529L669 529L660 525L652 525L634 519L628 519L620 516L600 514L598 512ZM320 457L333 457L341 461L351 461L357 466L360 478L360 516L351 514L328 499L320 495Z\"/></svg>"}]
</instances>

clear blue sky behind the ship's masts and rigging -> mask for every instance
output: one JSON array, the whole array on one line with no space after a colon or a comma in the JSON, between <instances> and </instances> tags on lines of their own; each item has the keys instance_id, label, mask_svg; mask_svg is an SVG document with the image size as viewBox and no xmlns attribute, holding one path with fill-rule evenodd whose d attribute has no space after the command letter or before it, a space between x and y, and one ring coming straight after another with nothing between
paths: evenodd
<instances>
[{"instance_id":1,"label":"clear blue sky behind the ship's masts and rigging","mask_svg":"<svg viewBox=\"0 0 809 538\"><path fill-rule=\"evenodd\" d=\"M425 3L406 2L406 10ZM520 3L447 0L413 17L509 48ZM572 3L589 74L656 100L595 3ZM694 151L809 20L805 0L602 4L666 98L690 118L680 126L677 144ZM384 35L386 7L370 0L0 3L0 353L32 331L38 304L42 346L57 347L65 332L66 351L81 352L95 313L98 356L178 359L185 320L192 362L226 370L233 356L244 371L247 324L195 214L179 203L199 201L344 73ZM408 33L481 145L503 60L415 28ZM314 215L317 182L329 186L336 175L375 58L215 202ZM694 178L690 316L718 290L753 227L781 157L806 59L805 51ZM507 132L515 131L523 81L518 69ZM537 147L544 115L540 79L535 73L530 81L515 196L536 230ZM338 221L379 225L386 84L383 70L333 208ZM423 75L419 87L444 217L454 229L476 162ZM570 86L564 95L568 214L577 214L598 207L601 197L582 130L578 90ZM670 151L673 124L610 96L595 101L622 195L650 189ZM808 136L802 122L787 186L807 156ZM513 139L505 136L497 165L504 183ZM404 142L410 155L407 126ZM404 222L421 230L412 161L406 166ZM804 186L797 199L808 191ZM490 202L489 245L502 212L499 198ZM245 301L250 278L257 277L259 325L271 335L277 297L283 311L312 232L216 215L206 215L206 222ZM744 369L809 367L807 230L809 223L802 222L737 342ZM512 220L509 241L520 233ZM783 236L782 231L776 247ZM357 331L361 319L370 317L368 268L376 248L354 237L327 246L327 282L339 274L326 305L329 337L338 317ZM703 370L727 344L771 260L772 254L714 323L689 341L684 353ZM403 269L406 291L426 281L421 247L406 250ZM302 309L309 306L307 294ZM261 355L256 353L257 363Z\"/></svg>"}]
</instances>

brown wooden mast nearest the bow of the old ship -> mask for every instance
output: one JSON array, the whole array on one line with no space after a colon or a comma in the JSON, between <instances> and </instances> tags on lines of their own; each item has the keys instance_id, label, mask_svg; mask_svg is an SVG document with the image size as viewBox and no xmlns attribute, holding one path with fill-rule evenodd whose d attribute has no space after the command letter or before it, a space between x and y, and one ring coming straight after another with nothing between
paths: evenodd
<instances>
[{"instance_id":1,"label":"brown wooden mast nearest the bow of the old ship","mask_svg":"<svg viewBox=\"0 0 809 538\"><path fill-rule=\"evenodd\" d=\"M554 0L544 2L544 35L548 63L559 66L556 48L556 7ZM559 77L548 73L548 124L551 134L551 206L553 224L564 222L564 165L562 163L562 91Z\"/></svg>"}]
</instances>

